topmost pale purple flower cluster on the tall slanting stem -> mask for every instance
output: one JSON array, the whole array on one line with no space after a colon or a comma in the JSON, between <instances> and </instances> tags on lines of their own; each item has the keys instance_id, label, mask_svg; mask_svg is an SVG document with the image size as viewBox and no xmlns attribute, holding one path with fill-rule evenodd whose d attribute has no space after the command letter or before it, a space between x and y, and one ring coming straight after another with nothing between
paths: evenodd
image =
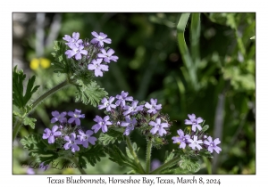
<instances>
[{"instance_id":1,"label":"topmost pale purple flower cluster on the tall slanting stem","mask_svg":"<svg viewBox=\"0 0 268 187\"><path fill-rule=\"evenodd\" d=\"M96 77L103 77L104 71L108 71L108 63L117 61L118 57L113 55L112 48L105 47L106 44L111 44L112 40L107 38L107 35L100 32L97 34L95 31L91 33L95 38L90 42L88 39L84 41L80 39L80 33L73 32L72 37L65 35L63 40L69 46L65 54L67 58L78 61L80 66L94 71Z\"/></svg>"}]
</instances>

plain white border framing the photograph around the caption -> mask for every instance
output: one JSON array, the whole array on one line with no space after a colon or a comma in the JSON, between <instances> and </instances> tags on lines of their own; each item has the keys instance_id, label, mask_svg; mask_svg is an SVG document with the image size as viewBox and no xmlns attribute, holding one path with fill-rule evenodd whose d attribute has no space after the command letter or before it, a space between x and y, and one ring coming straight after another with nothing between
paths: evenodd
<instances>
[{"instance_id":1,"label":"plain white border framing the photograph around the caption","mask_svg":"<svg viewBox=\"0 0 268 187\"><path fill-rule=\"evenodd\" d=\"M12 175L12 12L256 12L256 175L196 175L203 178L219 178L220 186L235 186L236 184L247 186L257 184L265 186L267 183L265 175L265 167L267 161L265 156L267 129L265 118L268 93L267 93L267 5L262 4L264 1L249 0L225 0L225 1L5 1L1 5L1 65L4 66L1 71L1 103L2 123L1 123L1 164L0 164L0 183L17 184L17 185L38 185L47 186L46 177L65 178L71 175ZM265 77L266 76L266 77ZM4 92L3 92L4 91ZM99 178L99 177L117 177L125 178L126 175L83 175L83 178ZM144 175L135 175L141 178ZM157 175L147 178L155 178ZM191 178L191 175L180 175ZM80 175L74 175L79 178ZM161 175L163 178L175 178L177 175ZM263 184L263 185L262 185ZM63 185L63 184L60 184ZM65 185L65 184L64 184ZM71 184L78 186L81 184ZM86 184L90 185L90 184ZM98 184L91 184L96 186ZM111 185L111 184L110 184ZM109 186L110 186L109 185ZM112 186L125 186L125 184L113 184ZM137 185L137 184L128 184ZM179 184L177 184L179 185ZM193 185L193 184L183 184ZM203 184L195 184L202 185ZM266 184L267 185L267 184ZM4 186L4 185L3 185ZM107 186L107 185L106 185ZM148 185L143 185L148 186ZM158 185L157 185L158 186ZM215 186L215 185L210 185ZM218 184L216 184L218 186Z\"/></svg>"}]
</instances>

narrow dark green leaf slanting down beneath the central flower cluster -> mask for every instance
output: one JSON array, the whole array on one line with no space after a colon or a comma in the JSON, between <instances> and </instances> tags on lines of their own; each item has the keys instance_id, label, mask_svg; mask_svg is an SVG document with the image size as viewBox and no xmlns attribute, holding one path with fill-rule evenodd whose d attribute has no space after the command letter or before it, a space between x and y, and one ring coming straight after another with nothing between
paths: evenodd
<instances>
[{"instance_id":1,"label":"narrow dark green leaf slanting down beneath the central flower cluster","mask_svg":"<svg viewBox=\"0 0 268 187\"><path fill-rule=\"evenodd\" d=\"M130 159L125 153L123 153L116 145L113 148L106 147L105 152L110 156L110 160L117 163L121 167L131 167L136 172L138 171L138 166L134 159Z\"/></svg>"}]
</instances>

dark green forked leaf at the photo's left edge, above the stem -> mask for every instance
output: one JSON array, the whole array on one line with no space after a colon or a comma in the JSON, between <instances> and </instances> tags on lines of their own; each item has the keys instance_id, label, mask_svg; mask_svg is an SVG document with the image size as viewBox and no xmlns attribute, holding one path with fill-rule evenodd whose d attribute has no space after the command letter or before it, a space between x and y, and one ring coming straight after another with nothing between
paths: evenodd
<instances>
[{"instance_id":1,"label":"dark green forked leaf at the photo's left edge, above the stem","mask_svg":"<svg viewBox=\"0 0 268 187\"><path fill-rule=\"evenodd\" d=\"M23 95L23 81L25 80L26 75L23 74L23 70L17 70L17 66L13 69L13 104L16 105L19 109L23 109L32 94L37 92L40 85L34 86L36 77L30 77L26 87L26 92Z\"/></svg>"}]
</instances>

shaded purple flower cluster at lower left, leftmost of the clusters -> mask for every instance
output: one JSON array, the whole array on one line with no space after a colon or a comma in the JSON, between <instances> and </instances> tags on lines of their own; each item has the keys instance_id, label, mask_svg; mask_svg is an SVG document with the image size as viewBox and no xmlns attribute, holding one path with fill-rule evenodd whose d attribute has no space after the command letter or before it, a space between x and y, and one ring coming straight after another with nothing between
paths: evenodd
<instances>
[{"instance_id":1,"label":"shaded purple flower cluster at lower left, leftmost of the clusters","mask_svg":"<svg viewBox=\"0 0 268 187\"><path fill-rule=\"evenodd\" d=\"M67 115L69 119L67 119ZM96 137L91 136L93 131L84 132L80 126L80 118L85 118L85 115L81 114L81 110L68 113L53 111L52 116L51 123L56 125L52 129L46 128L43 134L43 139L48 139L48 143L60 144L59 149L71 149L72 152L79 151L79 145L84 148L88 148L88 143L95 145Z\"/></svg>"}]
</instances>

